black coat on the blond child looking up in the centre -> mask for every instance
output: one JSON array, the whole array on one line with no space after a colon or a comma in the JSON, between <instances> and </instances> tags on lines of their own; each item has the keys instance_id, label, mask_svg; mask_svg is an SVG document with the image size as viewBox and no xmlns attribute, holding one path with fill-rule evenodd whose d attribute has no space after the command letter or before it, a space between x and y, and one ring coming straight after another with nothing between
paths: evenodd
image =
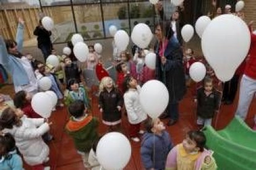
<instances>
[{"instance_id":1,"label":"black coat on the blond child looking up in the centre","mask_svg":"<svg viewBox=\"0 0 256 170\"><path fill-rule=\"evenodd\" d=\"M117 106L122 107L122 95L117 89L108 92L106 89L100 93L99 107L103 109L102 119L109 122L121 119L121 111Z\"/></svg>"}]
</instances>

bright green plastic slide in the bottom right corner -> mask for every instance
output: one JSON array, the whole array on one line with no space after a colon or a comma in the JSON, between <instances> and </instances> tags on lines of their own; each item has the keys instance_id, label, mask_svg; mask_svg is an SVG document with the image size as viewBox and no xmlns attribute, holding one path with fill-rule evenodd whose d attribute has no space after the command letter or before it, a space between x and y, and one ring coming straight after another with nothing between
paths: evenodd
<instances>
[{"instance_id":1,"label":"bright green plastic slide in the bottom right corner","mask_svg":"<svg viewBox=\"0 0 256 170\"><path fill-rule=\"evenodd\" d=\"M235 117L223 130L207 126L207 147L214 151L220 170L256 170L256 131Z\"/></svg>"}]
</instances>

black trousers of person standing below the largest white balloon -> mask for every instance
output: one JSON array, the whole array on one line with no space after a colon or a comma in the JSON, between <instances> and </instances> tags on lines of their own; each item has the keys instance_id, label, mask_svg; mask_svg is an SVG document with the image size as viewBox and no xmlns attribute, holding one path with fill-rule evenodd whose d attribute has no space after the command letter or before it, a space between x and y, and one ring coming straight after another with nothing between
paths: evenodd
<instances>
[{"instance_id":1,"label":"black trousers of person standing below the largest white balloon","mask_svg":"<svg viewBox=\"0 0 256 170\"><path fill-rule=\"evenodd\" d=\"M236 97L239 77L240 77L239 75L234 75L231 80L224 83L223 97L222 97L223 101L234 102L234 99Z\"/></svg>"}]
</instances>

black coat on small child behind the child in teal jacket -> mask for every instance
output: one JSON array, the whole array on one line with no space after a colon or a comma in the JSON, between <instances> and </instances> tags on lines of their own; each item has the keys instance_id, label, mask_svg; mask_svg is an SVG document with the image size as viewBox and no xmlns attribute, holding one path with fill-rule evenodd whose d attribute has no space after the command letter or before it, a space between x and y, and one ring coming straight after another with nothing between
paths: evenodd
<instances>
[{"instance_id":1,"label":"black coat on small child behind the child in teal jacket","mask_svg":"<svg viewBox=\"0 0 256 170\"><path fill-rule=\"evenodd\" d=\"M70 66L65 66L64 70L67 82L72 78L77 79L79 83L81 82L80 71L75 63L72 63Z\"/></svg>"}]
</instances>

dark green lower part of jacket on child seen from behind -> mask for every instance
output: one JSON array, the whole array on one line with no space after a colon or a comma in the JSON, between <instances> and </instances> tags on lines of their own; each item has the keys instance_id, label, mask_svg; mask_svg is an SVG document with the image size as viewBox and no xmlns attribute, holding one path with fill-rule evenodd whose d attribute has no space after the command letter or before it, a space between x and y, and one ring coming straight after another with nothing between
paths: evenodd
<instances>
[{"instance_id":1,"label":"dark green lower part of jacket on child seen from behind","mask_svg":"<svg viewBox=\"0 0 256 170\"><path fill-rule=\"evenodd\" d=\"M72 117L71 121L74 121ZM75 148L80 152L90 152L93 142L98 139L98 119L93 118L90 123L82 127L78 131L69 131L66 129L67 134L74 140Z\"/></svg>"}]
</instances>

